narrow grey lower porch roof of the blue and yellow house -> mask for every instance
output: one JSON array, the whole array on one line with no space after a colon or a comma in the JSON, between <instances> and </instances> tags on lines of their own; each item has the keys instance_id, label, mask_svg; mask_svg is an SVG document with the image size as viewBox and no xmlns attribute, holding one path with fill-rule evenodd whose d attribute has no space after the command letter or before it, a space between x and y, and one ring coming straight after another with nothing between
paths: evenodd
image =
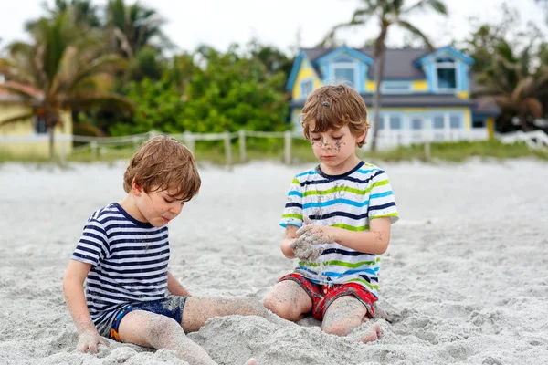
<instances>
[{"instance_id":1,"label":"narrow grey lower porch roof of the blue and yellow house","mask_svg":"<svg viewBox=\"0 0 548 365\"><path fill-rule=\"evenodd\" d=\"M368 109L373 107L373 95L362 94ZM416 95L383 95L381 98L382 108L394 107L471 107L474 105L472 99L460 99L454 95L447 94L416 94ZM291 107L302 108L304 100L291 101Z\"/></svg>"}]
</instances>

